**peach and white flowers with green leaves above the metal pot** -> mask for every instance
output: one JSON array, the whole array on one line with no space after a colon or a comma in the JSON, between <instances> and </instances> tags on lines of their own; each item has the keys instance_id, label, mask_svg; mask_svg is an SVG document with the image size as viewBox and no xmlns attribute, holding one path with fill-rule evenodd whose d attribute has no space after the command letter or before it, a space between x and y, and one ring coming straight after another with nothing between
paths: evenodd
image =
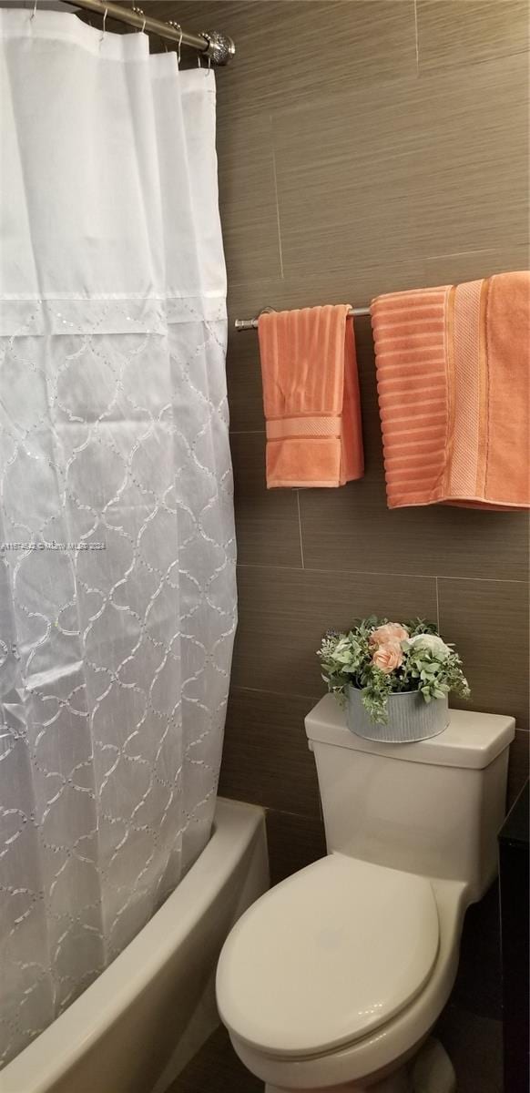
<instances>
[{"instance_id":1,"label":"peach and white flowers with green leaves above the metal pot","mask_svg":"<svg viewBox=\"0 0 530 1093\"><path fill-rule=\"evenodd\" d=\"M470 690L462 662L433 623L414 619L389 622L370 615L348 634L328 631L318 650L328 690L343 701L348 686L362 690L373 721L388 724L388 697L420 691L425 702L450 691L467 698Z\"/></svg>"}]
</instances>

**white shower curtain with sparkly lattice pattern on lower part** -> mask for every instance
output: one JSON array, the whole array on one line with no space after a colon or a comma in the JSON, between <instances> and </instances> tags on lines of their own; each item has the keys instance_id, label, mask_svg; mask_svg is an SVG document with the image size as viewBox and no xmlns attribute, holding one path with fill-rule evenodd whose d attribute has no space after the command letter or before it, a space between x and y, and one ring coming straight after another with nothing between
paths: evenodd
<instances>
[{"instance_id":1,"label":"white shower curtain with sparkly lattice pattern on lower part","mask_svg":"<svg viewBox=\"0 0 530 1093\"><path fill-rule=\"evenodd\" d=\"M0 11L0 1059L208 841L235 628L213 73Z\"/></svg>"}]
</instances>

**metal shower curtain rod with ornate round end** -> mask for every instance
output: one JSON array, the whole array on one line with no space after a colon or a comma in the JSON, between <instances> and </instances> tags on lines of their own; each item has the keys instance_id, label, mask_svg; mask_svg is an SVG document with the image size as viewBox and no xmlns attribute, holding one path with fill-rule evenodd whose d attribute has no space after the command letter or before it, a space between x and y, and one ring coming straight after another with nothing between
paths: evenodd
<instances>
[{"instance_id":1,"label":"metal shower curtain rod with ornate round end","mask_svg":"<svg viewBox=\"0 0 530 1093\"><path fill-rule=\"evenodd\" d=\"M158 38L176 42L177 45L190 46L192 49L198 49L214 64L227 64L236 51L232 38L221 31L202 31L201 34L190 34L189 31L180 30L178 23L162 23L158 19L144 15L141 8L121 8L117 3L106 3L106 0L68 0L68 2L86 11L96 11L104 19L108 15L109 19L136 26L146 34L155 34Z\"/></svg>"}]
</instances>

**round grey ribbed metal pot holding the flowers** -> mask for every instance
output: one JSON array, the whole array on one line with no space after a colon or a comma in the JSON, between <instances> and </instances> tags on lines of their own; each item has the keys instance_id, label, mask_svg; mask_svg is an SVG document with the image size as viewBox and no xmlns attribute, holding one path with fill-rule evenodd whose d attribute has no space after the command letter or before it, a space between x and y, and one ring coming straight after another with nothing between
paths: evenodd
<instances>
[{"instance_id":1,"label":"round grey ribbed metal pot holding the flowers","mask_svg":"<svg viewBox=\"0 0 530 1093\"><path fill-rule=\"evenodd\" d=\"M346 687L346 722L351 732L365 740L407 744L413 740L437 737L449 725L449 704L445 698L425 702L420 691L402 691L388 698L388 725L373 721L358 687Z\"/></svg>"}]
</instances>

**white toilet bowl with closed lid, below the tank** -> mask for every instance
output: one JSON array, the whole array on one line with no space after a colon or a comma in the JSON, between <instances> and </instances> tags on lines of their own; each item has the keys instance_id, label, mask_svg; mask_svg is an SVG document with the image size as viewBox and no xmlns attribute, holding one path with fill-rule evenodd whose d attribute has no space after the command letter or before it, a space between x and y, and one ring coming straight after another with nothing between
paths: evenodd
<instances>
[{"instance_id":1,"label":"white toilet bowl with closed lid, below the tank","mask_svg":"<svg viewBox=\"0 0 530 1093\"><path fill-rule=\"evenodd\" d=\"M287 878L247 910L219 963L217 1004L242 1061L272 1093L384 1079L411 1089L399 1070L447 1000L464 907L462 883L342 854Z\"/></svg>"}]
</instances>

